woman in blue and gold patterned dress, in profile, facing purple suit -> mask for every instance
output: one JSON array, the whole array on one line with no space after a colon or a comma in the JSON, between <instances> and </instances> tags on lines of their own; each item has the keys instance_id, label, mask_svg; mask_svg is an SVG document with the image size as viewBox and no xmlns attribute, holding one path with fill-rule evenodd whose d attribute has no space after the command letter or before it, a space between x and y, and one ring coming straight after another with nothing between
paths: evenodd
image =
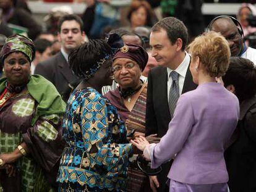
<instances>
[{"instance_id":1,"label":"woman in blue and gold patterned dress, in profile, facing purple suit","mask_svg":"<svg viewBox=\"0 0 256 192\"><path fill-rule=\"evenodd\" d=\"M122 191L132 145L126 128L101 94L111 85L112 54L104 40L90 40L69 55L73 72L83 78L67 103L59 191Z\"/></svg>"}]
</instances>

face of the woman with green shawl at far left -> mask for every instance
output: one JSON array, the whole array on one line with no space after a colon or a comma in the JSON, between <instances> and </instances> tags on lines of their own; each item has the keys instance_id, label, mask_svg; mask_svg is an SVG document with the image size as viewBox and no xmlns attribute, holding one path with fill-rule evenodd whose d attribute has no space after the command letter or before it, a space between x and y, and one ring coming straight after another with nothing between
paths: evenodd
<instances>
[{"instance_id":1,"label":"face of the woman with green shawl at far left","mask_svg":"<svg viewBox=\"0 0 256 192\"><path fill-rule=\"evenodd\" d=\"M22 52L12 52L4 59L4 73L11 85L24 85L30 76L30 62Z\"/></svg>"}]
</instances>

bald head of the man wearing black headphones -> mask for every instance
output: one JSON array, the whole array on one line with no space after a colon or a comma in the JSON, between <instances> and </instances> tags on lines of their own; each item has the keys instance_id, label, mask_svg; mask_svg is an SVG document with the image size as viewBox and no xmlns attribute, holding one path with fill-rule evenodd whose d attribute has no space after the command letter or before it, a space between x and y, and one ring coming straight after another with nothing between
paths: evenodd
<instances>
[{"instance_id":1,"label":"bald head of the man wearing black headphones","mask_svg":"<svg viewBox=\"0 0 256 192\"><path fill-rule=\"evenodd\" d=\"M241 56L244 44L236 24L229 17L221 17L211 23L210 30L221 33L229 43L231 56Z\"/></svg>"}]
</instances>

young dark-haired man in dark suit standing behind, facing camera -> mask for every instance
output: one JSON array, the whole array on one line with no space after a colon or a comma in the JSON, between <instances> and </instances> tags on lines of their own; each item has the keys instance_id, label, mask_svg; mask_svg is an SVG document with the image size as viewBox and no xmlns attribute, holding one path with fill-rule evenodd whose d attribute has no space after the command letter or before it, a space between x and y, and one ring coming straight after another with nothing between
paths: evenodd
<instances>
[{"instance_id":1,"label":"young dark-haired man in dark suit standing behind, facing camera","mask_svg":"<svg viewBox=\"0 0 256 192\"><path fill-rule=\"evenodd\" d=\"M43 75L43 77L51 81L61 94L68 90L70 83L79 79L69 69L67 61L69 53L84 42L85 33L82 29L83 22L77 15L64 15L61 17L58 33L61 51L50 59L36 65L35 74Z\"/></svg>"}]
</instances>

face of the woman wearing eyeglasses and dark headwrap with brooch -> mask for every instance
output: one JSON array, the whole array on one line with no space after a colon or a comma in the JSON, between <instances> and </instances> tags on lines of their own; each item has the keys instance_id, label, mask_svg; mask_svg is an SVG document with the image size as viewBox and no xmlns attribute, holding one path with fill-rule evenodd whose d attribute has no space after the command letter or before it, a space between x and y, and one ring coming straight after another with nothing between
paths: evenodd
<instances>
[{"instance_id":1,"label":"face of the woman wearing eyeglasses and dark headwrap with brooch","mask_svg":"<svg viewBox=\"0 0 256 192\"><path fill-rule=\"evenodd\" d=\"M114 79L123 89L136 88L140 83L141 70L137 62L127 58L113 61Z\"/></svg>"}]
</instances>

